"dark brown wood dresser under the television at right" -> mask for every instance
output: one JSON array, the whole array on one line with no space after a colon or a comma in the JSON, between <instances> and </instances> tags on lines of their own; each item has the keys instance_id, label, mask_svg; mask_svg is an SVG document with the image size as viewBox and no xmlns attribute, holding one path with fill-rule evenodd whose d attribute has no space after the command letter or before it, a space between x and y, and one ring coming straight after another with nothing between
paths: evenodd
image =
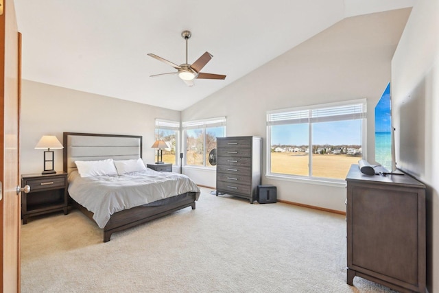
<instances>
[{"instance_id":1,"label":"dark brown wood dresser under the television at right","mask_svg":"<svg viewBox=\"0 0 439 293\"><path fill-rule=\"evenodd\" d=\"M398 171L400 172L400 171ZM425 292L425 185L411 176L346 176L347 281Z\"/></svg>"}]
</instances>

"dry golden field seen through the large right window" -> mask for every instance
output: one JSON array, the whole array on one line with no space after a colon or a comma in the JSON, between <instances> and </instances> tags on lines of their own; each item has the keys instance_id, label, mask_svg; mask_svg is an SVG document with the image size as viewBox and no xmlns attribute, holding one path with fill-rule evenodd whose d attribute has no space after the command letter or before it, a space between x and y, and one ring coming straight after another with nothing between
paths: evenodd
<instances>
[{"instance_id":1,"label":"dry golden field seen through the large right window","mask_svg":"<svg viewBox=\"0 0 439 293\"><path fill-rule=\"evenodd\" d=\"M361 156L347 154L313 154L314 177L344 179L352 164ZM272 173L308 176L308 154L305 152L272 152Z\"/></svg>"}]
</instances>

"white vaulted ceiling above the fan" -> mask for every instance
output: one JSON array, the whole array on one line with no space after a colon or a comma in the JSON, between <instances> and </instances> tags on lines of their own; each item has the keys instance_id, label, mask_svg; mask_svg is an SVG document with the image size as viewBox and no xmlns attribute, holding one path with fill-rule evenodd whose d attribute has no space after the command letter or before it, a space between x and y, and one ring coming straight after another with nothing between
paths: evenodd
<instances>
[{"instance_id":1,"label":"white vaulted ceiling above the fan","mask_svg":"<svg viewBox=\"0 0 439 293\"><path fill-rule=\"evenodd\" d=\"M414 0L15 0L22 78L183 110L346 17L410 7ZM150 75L213 55L202 69L226 80ZM275 78L275 77L268 77Z\"/></svg>"}]
</instances>

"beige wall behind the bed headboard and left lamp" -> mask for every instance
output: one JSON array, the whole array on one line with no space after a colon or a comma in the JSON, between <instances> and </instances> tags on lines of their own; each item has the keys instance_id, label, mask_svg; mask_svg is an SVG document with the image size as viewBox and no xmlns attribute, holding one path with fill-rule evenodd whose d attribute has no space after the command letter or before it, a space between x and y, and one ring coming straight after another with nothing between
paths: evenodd
<instances>
[{"instance_id":1,"label":"beige wall behind the bed headboard and left lamp","mask_svg":"<svg viewBox=\"0 0 439 293\"><path fill-rule=\"evenodd\" d=\"M43 171L43 150L34 150L45 134L62 143L62 132L143 136L143 161L154 163L155 119L180 121L180 111L23 80L21 89L21 173ZM62 150L54 150L62 171Z\"/></svg>"}]
</instances>

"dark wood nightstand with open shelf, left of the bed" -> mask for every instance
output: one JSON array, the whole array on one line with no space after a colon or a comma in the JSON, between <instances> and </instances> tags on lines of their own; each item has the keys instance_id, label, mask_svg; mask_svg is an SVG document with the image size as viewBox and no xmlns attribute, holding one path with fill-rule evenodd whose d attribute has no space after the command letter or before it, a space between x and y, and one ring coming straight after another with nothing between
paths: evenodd
<instances>
[{"instance_id":1,"label":"dark wood nightstand with open shelf, left of the bed","mask_svg":"<svg viewBox=\"0 0 439 293\"><path fill-rule=\"evenodd\" d=\"M27 218L53 211L69 213L67 207L67 173L26 174L21 176L21 187L29 185L28 194L21 192L21 218Z\"/></svg>"}]
</instances>

